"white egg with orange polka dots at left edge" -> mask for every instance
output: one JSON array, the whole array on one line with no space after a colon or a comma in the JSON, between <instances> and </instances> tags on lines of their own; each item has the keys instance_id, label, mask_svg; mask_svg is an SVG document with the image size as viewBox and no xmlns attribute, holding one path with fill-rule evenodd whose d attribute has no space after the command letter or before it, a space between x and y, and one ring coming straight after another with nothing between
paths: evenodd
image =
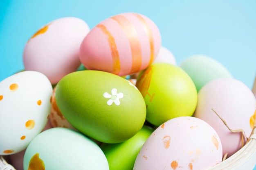
<instances>
[{"instance_id":1,"label":"white egg with orange polka dots at left edge","mask_svg":"<svg viewBox=\"0 0 256 170\"><path fill-rule=\"evenodd\" d=\"M0 82L0 155L24 150L43 130L52 91L49 79L36 71L19 72Z\"/></svg>"}]
</instances>

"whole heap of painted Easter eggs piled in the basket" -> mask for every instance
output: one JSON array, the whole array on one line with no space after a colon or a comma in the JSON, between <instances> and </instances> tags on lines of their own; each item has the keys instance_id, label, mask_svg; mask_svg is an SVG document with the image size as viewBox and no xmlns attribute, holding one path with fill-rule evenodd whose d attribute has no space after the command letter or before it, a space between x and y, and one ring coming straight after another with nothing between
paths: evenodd
<instances>
[{"instance_id":1,"label":"whole heap of painted Easter eggs piled in the basket","mask_svg":"<svg viewBox=\"0 0 256 170\"><path fill-rule=\"evenodd\" d=\"M92 30L54 20L29 39L23 63L0 82L0 155L24 170L207 169L254 127L245 84L208 56L176 65L138 13Z\"/></svg>"}]
</instances>

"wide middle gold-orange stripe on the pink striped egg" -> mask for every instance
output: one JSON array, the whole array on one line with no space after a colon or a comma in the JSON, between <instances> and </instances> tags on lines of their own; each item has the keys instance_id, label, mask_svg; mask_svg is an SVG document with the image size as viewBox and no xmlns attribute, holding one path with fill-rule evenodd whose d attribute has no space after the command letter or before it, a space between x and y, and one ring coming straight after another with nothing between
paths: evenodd
<instances>
[{"instance_id":1,"label":"wide middle gold-orange stripe on the pink striped egg","mask_svg":"<svg viewBox=\"0 0 256 170\"><path fill-rule=\"evenodd\" d=\"M142 63L142 59L141 59L142 54L141 54L141 44L139 42L139 37L135 27L123 15L116 15L111 18L121 26L126 37L128 38L130 48L131 48L131 53L132 53L131 73L139 72L141 63Z\"/></svg>"}]
</instances>

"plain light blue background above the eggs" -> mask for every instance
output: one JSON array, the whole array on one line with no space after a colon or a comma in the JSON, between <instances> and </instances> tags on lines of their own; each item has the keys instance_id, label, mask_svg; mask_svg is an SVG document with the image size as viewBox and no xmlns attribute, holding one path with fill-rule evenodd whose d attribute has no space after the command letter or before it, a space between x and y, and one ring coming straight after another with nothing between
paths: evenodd
<instances>
[{"instance_id":1,"label":"plain light blue background above the eggs","mask_svg":"<svg viewBox=\"0 0 256 170\"><path fill-rule=\"evenodd\" d=\"M193 54L222 63L250 89L256 76L255 0L0 0L0 81L24 69L27 40L60 17L79 17L92 29L124 12L157 24L162 46L177 65Z\"/></svg>"}]
</instances>

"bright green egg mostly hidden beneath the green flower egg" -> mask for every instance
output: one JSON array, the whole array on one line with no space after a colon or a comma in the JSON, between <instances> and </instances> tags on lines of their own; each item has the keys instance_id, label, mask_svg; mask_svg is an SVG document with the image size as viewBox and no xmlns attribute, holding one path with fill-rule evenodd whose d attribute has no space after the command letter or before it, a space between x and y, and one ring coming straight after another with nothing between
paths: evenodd
<instances>
[{"instance_id":1,"label":"bright green egg mostly hidden beneath the green flower egg","mask_svg":"<svg viewBox=\"0 0 256 170\"><path fill-rule=\"evenodd\" d=\"M118 144L100 145L105 154L110 170L132 170L139 150L154 131L150 126L143 126L136 135Z\"/></svg>"}]
</instances>

